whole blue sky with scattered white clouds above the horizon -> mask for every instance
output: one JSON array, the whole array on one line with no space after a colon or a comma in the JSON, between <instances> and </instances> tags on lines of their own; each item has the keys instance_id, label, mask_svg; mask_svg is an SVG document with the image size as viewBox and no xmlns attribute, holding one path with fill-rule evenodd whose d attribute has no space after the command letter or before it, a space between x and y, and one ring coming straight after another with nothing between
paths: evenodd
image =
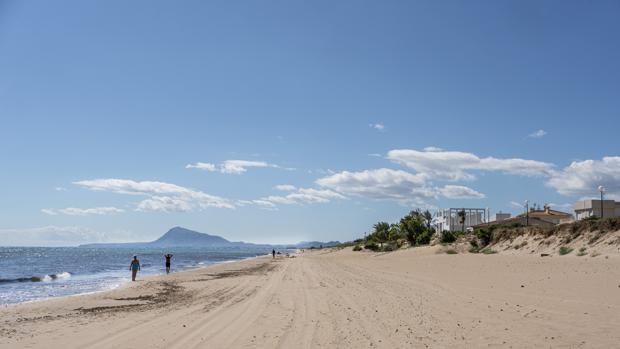
<instances>
[{"instance_id":1,"label":"whole blue sky with scattered white clouds above the horizon","mask_svg":"<svg viewBox=\"0 0 620 349\"><path fill-rule=\"evenodd\" d=\"M618 1L0 0L0 245L620 199Z\"/></svg>"}]
</instances>

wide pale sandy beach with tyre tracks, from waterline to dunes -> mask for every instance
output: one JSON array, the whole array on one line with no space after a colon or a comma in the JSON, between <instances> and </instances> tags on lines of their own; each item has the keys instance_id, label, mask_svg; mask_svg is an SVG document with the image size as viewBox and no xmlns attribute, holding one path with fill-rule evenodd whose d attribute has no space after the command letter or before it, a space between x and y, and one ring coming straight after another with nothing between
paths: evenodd
<instances>
[{"instance_id":1,"label":"wide pale sandy beach with tyre tracks, from waterline to dunes","mask_svg":"<svg viewBox=\"0 0 620 349\"><path fill-rule=\"evenodd\" d=\"M620 257L307 252L0 310L0 348L619 348Z\"/></svg>"}]
</instances>

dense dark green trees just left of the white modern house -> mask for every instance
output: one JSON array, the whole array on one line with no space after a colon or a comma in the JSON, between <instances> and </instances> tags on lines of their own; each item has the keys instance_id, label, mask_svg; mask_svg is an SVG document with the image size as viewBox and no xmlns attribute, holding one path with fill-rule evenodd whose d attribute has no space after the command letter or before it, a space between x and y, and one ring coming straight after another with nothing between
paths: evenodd
<instances>
[{"instance_id":1,"label":"dense dark green trees just left of the white modern house","mask_svg":"<svg viewBox=\"0 0 620 349\"><path fill-rule=\"evenodd\" d=\"M363 240L364 247L389 252L401 248L407 242L409 246L428 245L435 234L435 229L431 227L432 218L429 211L414 210L398 223L377 222L373 225L372 233Z\"/></svg>"}]
</instances>

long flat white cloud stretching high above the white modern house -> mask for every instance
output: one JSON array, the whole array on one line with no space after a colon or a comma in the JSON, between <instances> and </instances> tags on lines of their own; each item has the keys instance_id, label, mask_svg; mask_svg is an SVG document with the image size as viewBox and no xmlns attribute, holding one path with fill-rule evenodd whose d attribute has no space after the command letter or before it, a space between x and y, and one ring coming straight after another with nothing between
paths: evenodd
<instances>
[{"instance_id":1,"label":"long flat white cloud stretching high above the white modern house","mask_svg":"<svg viewBox=\"0 0 620 349\"><path fill-rule=\"evenodd\" d=\"M480 158L472 153L459 151L418 151L395 149L388 152L387 158L395 163L416 170L428 179L473 180L470 171L499 171L519 176L549 176L553 164L526 159Z\"/></svg>"}]
</instances>

